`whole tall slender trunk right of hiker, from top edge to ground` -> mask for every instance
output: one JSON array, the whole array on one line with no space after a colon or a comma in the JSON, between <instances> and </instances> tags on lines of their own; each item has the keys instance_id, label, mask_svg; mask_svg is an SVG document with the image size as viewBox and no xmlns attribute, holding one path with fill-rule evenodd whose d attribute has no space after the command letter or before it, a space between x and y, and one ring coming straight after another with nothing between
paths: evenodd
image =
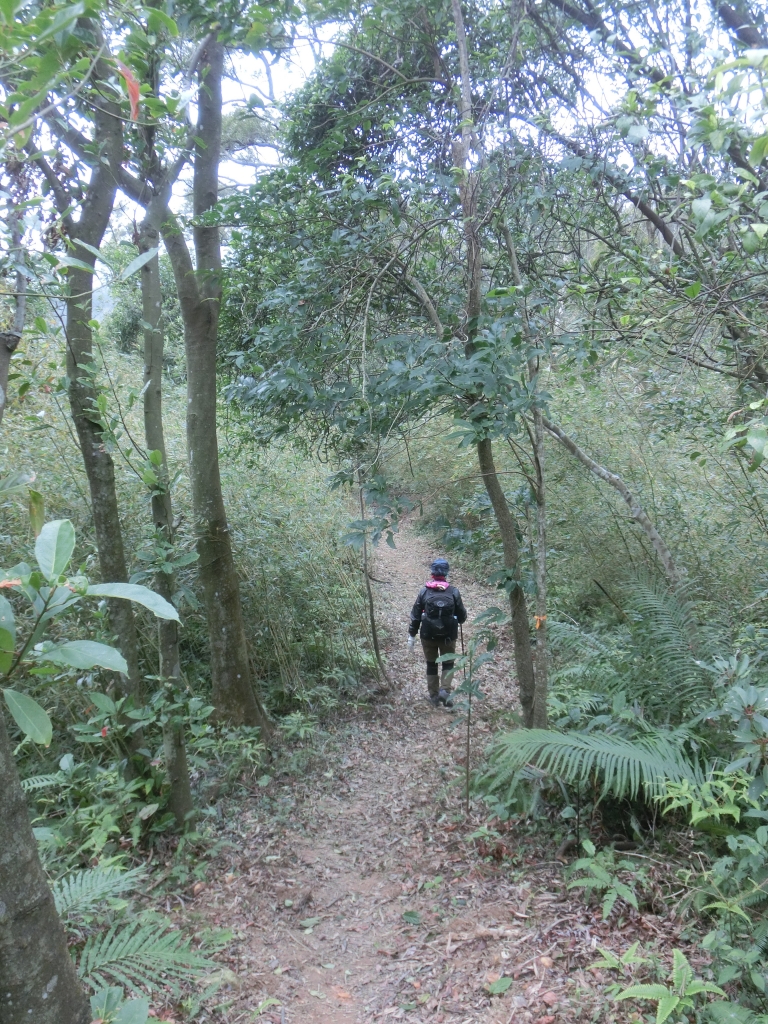
<instances>
[{"instance_id":1,"label":"whole tall slender trunk right of hiker, from top edge to ground","mask_svg":"<svg viewBox=\"0 0 768 1024\"><path fill-rule=\"evenodd\" d=\"M460 104L461 139L453 146L454 166L460 167L464 180L460 185L462 213L464 216L464 242L467 249L467 298L465 304L467 341L465 345L467 358L474 352L473 339L477 332L477 323L481 311L482 299L482 248L477 223L477 193L479 189L479 173L470 166L469 156L472 147L480 153L472 115L472 81L469 70L469 53L467 36L464 27L461 0L451 0L451 9L456 27L457 46L459 50L460 68ZM478 396L480 397L480 396ZM504 565L519 577L519 549L517 531L512 512L509 508L504 488L494 463L494 450L490 439L485 437L477 442L477 460L480 473L494 508L496 521L502 537ZM523 720L530 726L534 718L534 696L536 689L534 673L534 655L528 626L528 611L525 594L519 583L515 583L509 595L512 614L512 635L515 646L515 668L517 684L520 691Z\"/></svg>"}]
</instances>

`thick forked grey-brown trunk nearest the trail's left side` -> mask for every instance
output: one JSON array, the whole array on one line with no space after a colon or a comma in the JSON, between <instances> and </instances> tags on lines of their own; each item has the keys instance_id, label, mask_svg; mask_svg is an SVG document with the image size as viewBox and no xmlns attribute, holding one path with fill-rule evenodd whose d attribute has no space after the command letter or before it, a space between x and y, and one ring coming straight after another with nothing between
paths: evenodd
<instances>
[{"instance_id":1,"label":"thick forked grey-brown trunk nearest the trail's left side","mask_svg":"<svg viewBox=\"0 0 768 1024\"><path fill-rule=\"evenodd\" d=\"M218 200L223 57L223 45L210 38L199 71L193 186L197 267L193 267L186 243L170 214L166 215L162 230L184 321L186 443L200 581L211 645L214 703L221 718L236 725L258 725L268 735L269 720L251 682L240 581L221 492L216 436L221 251L219 229L204 223L204 216Z\"/></svg>"}]
</instances>

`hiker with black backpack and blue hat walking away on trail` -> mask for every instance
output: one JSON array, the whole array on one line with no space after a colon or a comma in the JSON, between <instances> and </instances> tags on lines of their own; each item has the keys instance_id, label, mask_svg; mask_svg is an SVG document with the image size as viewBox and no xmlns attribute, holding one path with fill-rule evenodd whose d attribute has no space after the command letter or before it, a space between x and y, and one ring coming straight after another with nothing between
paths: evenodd
<instances>
[{"instance_id":1,"label":"hiker with black backpack and blue hat walking away on trail","mask_svg":"<svg viewBox=\"0 0 768 1024\"><path fill-rule=\"evenodd\" d=\"M430 569L432 579L424 584L411 611L408 646L414 649L416 634L421 628L421 645L427 659L427 690L433 708L444 705L453 708L451 680L454 663L441 662L442 679L438 682L437 658L440 654L456 653L459 625L466 623L467 609L456 587L445 579L450 569L444 558L436 558Z\"/></svg>"}]
</instances>

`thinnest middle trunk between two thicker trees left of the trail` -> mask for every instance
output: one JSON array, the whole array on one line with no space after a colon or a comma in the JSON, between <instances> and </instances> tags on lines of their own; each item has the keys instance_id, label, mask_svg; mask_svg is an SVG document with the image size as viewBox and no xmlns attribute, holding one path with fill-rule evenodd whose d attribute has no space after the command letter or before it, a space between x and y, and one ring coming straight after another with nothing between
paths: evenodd
<instances>
[{"instance_id":1,"label":"thinnest middle trunk between two thicker trees left of the trail","mask_svg":"<svg viewBox=\"0 0 768 1024\"><path fill-rule=\"evenodd\" d=\"M161 210L162 213L162 210ZM159 230L153 222L156 211L150 206L139 230L139 252L157 249ZM144 318L144 438L150 452L160 452L161 464L156 466L160 485L152 495L152 517L158 538L169 547L173 546L173 505L171 501L170 474L163 429L163 291L160 282L160 261L157 254L141 268L141 304ZM155 577L155 589L167 601L171 601L175 590L175 577L160 571ZM160 675L168 689L171 702L180 684L181 665L179 657L178 623L172 620L158 620L160 646ZM168 713L163 726L163 749L165 767L170 785L170 808L176 824L182 828L189 820L195 805L189 784L189 769L186 762L184 725L177 712Z\"/></svg>"}]
</instances>

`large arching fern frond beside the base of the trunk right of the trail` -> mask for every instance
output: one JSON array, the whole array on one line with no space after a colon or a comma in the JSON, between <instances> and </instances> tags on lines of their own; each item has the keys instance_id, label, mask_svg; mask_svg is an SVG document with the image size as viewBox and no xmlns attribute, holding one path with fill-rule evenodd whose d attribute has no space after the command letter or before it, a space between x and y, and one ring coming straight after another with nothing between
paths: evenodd
<instances>
[{"instance_id":1,"label":"large arching fern frond beside the base of the trunk right of the trail","mask_svg":"<svg viewBox=\"0 0 768 1024\"><path fill-rule=\"evenodd\" d=\"M512 783L519 770L532 762L566 782L602 777L602 796L660 797L668 779L700 782L702 773L676 742L673 733L656 732L636 739L598 732L551 732L516 729L500 736L490 749L483 787L498 792Z\"/></svg>"}]
</instances>

